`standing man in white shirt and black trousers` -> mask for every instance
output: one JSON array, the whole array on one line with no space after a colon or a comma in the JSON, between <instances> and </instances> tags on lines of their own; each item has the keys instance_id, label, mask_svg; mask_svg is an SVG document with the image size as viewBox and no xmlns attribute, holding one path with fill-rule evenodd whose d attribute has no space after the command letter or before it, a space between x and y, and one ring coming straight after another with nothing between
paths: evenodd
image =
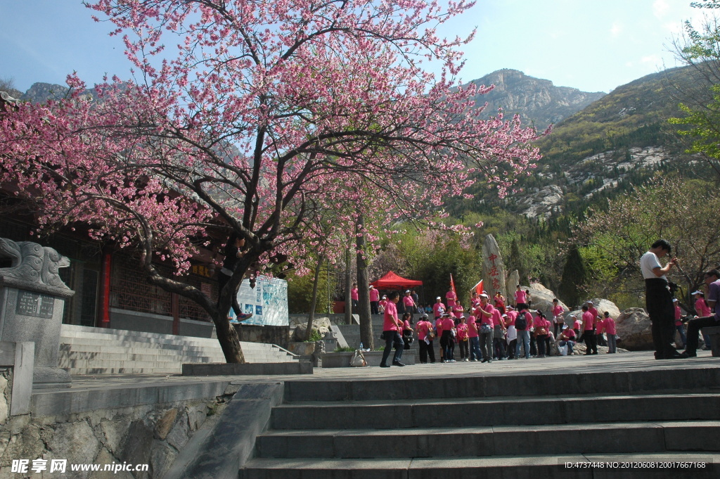
<instances>
[{"instance_id":1,"label":"standing man in white shirt and black trousers","mask_svg":"<svg viewBox=\"0 0 720 479\"><path fill-rule=\"evenodd\" d=\"M660 258L672 252L672 246L661 239L652 243L649 251L640 259L642 277L645 279L645 308L652 323L652 343L655 346L655 359L680 359L688 357L680 354L672 345L675 336L675 309L672 307L670 285L665 276L670 268L678 264L673 257L662 266Z\"/></svg>"}]
</instances>

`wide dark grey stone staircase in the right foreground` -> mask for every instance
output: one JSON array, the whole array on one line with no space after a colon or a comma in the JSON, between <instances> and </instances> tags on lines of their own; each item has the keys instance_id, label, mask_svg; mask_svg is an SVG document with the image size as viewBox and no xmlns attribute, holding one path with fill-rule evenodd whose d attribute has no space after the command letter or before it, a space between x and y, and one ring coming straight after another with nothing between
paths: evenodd
<instances>
[{"instance_id":1,"label":"wide dark grey stone staircase in the right foreground","mask_svg":"<svg viewBox=\"0 0 720 479\"><path fill-rule=\"evenodd\" d=\"M720 463L719 371L288 381L240 478L717 478L647 463Z\"/></svg>"}]
</instances>

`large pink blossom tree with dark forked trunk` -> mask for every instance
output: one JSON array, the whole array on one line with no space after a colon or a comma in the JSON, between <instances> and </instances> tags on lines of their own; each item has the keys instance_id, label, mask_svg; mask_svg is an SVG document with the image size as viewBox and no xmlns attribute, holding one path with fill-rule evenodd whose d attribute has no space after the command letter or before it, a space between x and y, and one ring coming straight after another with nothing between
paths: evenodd
<instances>
[{"instance_id":1,"label":"large pink blossom tree with dark forked trunk","mask_svg":"<svg viewBox=\"0 0 720 479\"><path fill-rule=\"evenodd\" d=\"M320 212L338 209L331 226L345 234L363 215L441 218L473 182L505 194L538 158L535 130L501 112L482 120L475 87L459 87L469 39L434 27L464 1L89 6L124 35L134 79L96 85L91 101L71 75L67 99L3 115L1 181L37 203L41 227L86 223L95 238L139 249L150 282L210 314L228 362L244 362L226 318L243 275L278 254L302 268L327 231ZM246 240L219 303L182 280L211 228Z\"/></svg>"}]
</instances>

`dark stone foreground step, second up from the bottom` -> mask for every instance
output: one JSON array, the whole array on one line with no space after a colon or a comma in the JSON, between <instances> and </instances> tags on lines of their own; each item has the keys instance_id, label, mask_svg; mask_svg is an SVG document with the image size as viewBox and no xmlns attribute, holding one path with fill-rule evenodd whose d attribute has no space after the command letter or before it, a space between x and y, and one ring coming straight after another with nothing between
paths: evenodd
<instances>
[{"instance_id":1,"label":"dark stone foreground step, second up from the bottom","mask_svg":"<svg viewBox=\"0 0 720 479\"><path fill-rule=\"evenodd\" d=\"M592 431L588 434L588 431ZM720 452L720 421L613 422L448 429L268 431L258 457L361 459L610 452Z\"/></svg>"}]
</instances>

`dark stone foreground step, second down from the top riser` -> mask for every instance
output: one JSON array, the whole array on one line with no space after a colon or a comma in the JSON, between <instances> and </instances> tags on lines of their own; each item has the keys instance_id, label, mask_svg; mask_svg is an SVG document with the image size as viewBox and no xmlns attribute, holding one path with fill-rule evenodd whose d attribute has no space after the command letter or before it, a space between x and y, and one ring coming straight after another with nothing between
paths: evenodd
<instances>
[{"instance_id":1,"label":"dark stone foreground step, second down from the top riser","mask_svg":"<svg viewBox=\"0 0 720 479\"><path fill-rule=\"evenodd\" d=\"M451 398L452 396L448 396ZM539 413L541 411L542 413ZM662 411L659 414L657 411ZM584 423L720 420L720 395L587 395L283 404L271 429L405 429Z\"/></svg>"}]
</instances>

